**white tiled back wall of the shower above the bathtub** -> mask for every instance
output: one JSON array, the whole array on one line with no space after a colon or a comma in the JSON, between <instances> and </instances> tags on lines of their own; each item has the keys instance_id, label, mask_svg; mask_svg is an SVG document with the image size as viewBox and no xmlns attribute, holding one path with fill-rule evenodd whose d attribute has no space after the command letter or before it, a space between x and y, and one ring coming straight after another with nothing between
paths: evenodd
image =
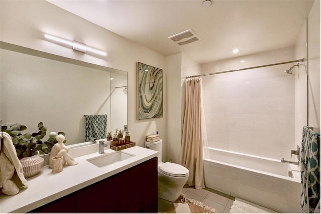
<instances>
[{"instance_id":1,"label":"white tiled back wall of the shower above the bathtub","mask_svg":"<svg viewBox=\"0 0 321 214\"><path fill-rule=\"evenodd\" d=\"M240 63L240 60L245 60ZM294 47L202 64L202 73L294 60ZM203 77L209 147L275 159L294 148L292 64Z\"/></svg>"}]
</instances>

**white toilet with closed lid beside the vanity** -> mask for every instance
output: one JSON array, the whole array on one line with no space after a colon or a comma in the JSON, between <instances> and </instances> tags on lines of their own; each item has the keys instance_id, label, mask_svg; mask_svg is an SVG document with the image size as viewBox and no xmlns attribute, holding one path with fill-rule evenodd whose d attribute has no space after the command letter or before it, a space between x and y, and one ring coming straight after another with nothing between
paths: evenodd
<instances>
[{"instance_id":1,"label":"white toilet with closed lid beside the vanity","mask_svg":"<svg viewBox=\"0 0 321 214\"><path fill-rule=\"evenodd\" d=\"M162 140L145 142L145 148L158 151L158 197L174 202L189 177L189 170L176 163L162 162Z\"/></svg>"}]
</instances>

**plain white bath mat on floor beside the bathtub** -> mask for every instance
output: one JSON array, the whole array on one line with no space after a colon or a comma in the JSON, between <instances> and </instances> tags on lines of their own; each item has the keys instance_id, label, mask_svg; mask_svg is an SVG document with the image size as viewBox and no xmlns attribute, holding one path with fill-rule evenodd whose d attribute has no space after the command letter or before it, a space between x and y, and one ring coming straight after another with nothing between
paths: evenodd
<instances>
[{"instance_id":1,"label":"plain white bath mat on floor beside the bathtub","mask_svg":"<svg viewBox=\"0 0 321 214\"><path fill-rule=\"evenodd\" d=\"M229 213L277 213L271 209L256 205L254 203L235 198Z\"/></svg>"}]
</instances>

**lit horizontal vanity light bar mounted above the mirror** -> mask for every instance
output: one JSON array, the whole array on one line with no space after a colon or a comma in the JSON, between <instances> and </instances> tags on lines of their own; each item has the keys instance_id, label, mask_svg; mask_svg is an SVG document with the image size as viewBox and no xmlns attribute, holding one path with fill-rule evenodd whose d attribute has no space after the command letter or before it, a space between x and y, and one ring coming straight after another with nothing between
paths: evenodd
<instances>
[{"instance_id":1,"label":"lit horizontal vanity light bar mounted above the mirror","mask_svg":"<svg viewBox=\"0 0 321 214\"><path fill-rule=\"evenodd\" d=\"M49 34L44 34L44 37L48 40L70 46L75 51L80 51L82 53L93 53L93 54L98 54L101 56L107 56L106 52L101 51L96 48L89 47L85 43L78 42L76 40L70 41L70 40L62 39L62 38L59 38L59 37L56 37L53 35L49 35Z\"/></svg>"}]
</instances>

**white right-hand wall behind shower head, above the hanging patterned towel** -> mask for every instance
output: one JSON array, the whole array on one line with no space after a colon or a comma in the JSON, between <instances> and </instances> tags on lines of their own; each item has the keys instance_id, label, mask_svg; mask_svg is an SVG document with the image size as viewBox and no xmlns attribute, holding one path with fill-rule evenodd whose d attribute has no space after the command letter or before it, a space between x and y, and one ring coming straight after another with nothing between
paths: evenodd
<instances>
[{"instance_id":1,"label":"white right-hand wall behind shower head, above the hanging patterned towel","mask_svg":"<svg viewBox=\"0 0 321 214\"><path fill-rule=\"evenodd\" d=\"M308 47L307 47L308 45ZM295 147L301 146L302 127L320 132L320 1L315 1L307 23L302 26L295 45L295 57L305 58L305 67L295 69ZM307 79L308 72L308 117Z\"/></svg>"}]
</instances>

